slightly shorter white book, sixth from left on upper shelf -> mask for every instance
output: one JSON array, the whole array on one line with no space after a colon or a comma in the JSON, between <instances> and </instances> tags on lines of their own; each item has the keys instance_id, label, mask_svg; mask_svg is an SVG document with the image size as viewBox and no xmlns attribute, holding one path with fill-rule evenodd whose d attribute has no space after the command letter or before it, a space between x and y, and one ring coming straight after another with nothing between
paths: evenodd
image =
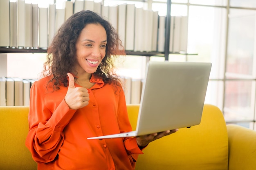
<instances>
[{"instance_id":1,"label":"slightly shorter white book, sixth from left on upper shelf","mask_svg":"<svg viewBox=\"0 0 256 170\"><path fill-rule=\"evenodd\" d=\"M48 47L48 8L39 8L39 48Z\"/></svg>"}]
</instances>

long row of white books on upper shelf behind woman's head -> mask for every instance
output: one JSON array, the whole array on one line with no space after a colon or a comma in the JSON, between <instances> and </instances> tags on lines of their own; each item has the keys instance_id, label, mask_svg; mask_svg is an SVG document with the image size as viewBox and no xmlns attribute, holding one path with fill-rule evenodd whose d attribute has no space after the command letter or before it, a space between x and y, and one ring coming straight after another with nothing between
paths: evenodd
<instances>
[{"instance_id":1,"label":"long row of white books on upper shelf behind woman's head","mask_svg":"<svg viewBox=\"0 0 256 170\"><path fill-rule=\"evenodd\" d=\"M75 0L48 8L24 0L0 1L0 47L47 49L58 28L73 13L91 10L105 17L117 30L127 51L164 52L166 16L135 4L104 6L101 2ZM186 52L188 19L171 18L170 52Z\"/></svg>"}]
</instances>

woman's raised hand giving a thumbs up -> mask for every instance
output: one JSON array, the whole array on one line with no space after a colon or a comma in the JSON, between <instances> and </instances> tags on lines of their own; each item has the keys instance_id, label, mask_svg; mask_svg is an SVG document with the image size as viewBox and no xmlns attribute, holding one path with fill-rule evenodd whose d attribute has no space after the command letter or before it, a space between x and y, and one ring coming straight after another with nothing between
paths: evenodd
<instances>
[{"instance_id":1,"label":"woman's raised hand giving a thumbs up","mask_svg":"<svg viewBox=\"0 0 256 170\"><path fill-rule=\"evenodd\" d=\"M89 104L89 93L84 87L75 87L74 77L72 74L67 73L69 77L69 84L67 88L67 94L65 96L65 102L70 109L80 109Z\"/></svg>"}]
</instances>

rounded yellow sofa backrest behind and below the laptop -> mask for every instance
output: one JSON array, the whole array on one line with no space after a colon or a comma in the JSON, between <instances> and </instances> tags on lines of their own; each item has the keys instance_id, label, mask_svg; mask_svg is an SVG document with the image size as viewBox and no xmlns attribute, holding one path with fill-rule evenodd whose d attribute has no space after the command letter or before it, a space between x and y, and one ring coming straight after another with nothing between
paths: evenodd
<instances>
[{"instance_id":1,"label":"rounded yellow sofa backrest behind and below the laptop","mask_svg":"<svg viewBox=\"0 0 256 170\"><path fill-rule=\"evenodd\" d=\"M134 106L130 109L128 105L129 114L132 110ZM136 114L129 116L135 119ZM134 122L131 120L136 128ZM151 142L143 152L136 170L227 170L228 135L223 114L213 105L204 105L200 125Z\"/></svg>"}]
</instances>

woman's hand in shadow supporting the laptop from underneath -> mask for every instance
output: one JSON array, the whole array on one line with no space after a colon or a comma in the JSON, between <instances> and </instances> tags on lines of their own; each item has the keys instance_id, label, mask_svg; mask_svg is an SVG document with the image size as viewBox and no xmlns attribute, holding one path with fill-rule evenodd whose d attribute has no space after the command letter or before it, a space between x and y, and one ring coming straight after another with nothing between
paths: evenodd
<instances>
[{"instance_id":1,"label":"woman's hand in shadow supporting the laptop from underneath","mask_svg":"<svg viewBox=\"0 0 256 170\"><path fill-rule=\"evenodd\" d=\"M149 134L149 135L138 136L138 137L136 137L136 141L137 141L137 144L138 144L139 148L144 148L150 142L152 142L156 139L159 139L161 137L164 137L166 135L170 135L172 133L175 133L177 131L178 131L178 129L173 129L173 130L168 130L168 131L164 131L164 132L152 133L152 134Z\"/></svg>"}]
</instances>

